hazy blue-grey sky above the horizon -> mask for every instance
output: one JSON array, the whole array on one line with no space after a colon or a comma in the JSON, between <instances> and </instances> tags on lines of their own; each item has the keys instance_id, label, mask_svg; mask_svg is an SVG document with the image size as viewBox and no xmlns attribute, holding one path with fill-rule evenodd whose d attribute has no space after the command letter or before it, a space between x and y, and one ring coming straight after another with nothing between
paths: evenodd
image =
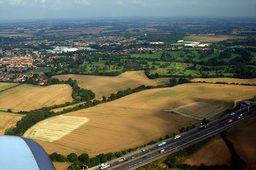
<instances>
[{"instance_id":1,"label":"hazy blue-grey sky above the horizon","mask_svg":"<svg viewBox=\"0 0 256 170\"><path fill-rule=\"evenodd\" d=\"M0 0L0 20L136 16L256 17L256 0Z\"/></svg>"}]
</instances>

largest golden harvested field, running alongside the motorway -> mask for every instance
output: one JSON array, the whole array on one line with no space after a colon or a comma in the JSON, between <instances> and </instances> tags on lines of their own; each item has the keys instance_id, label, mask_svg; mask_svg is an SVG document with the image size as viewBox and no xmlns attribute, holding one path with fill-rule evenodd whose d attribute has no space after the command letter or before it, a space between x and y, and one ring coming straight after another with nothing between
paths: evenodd
<instances>
[{"instance_id":1,"label":"largest golden harvested field, running alongside the motorway","mask_svg":"<svg viewBox=\"0 0 256 170\"><path fill-rule=\"evenodd\" d=\"M68 155L86 152L95 156L157 140L178 132L181 127L199 125L196 119L215 118L220 111L232 107L232 100L255 95L254 86L241 88L238 85L204 83L149 89L91 108L50 117L32 126L24 137L36 140L47 153ZM204 104L196 104L193 108L189 105L191 103ZM216 112L214 107L206 109L207 105L221 109ZM182 107L185 111L175 110ZM87 122L82 124L81 120ZM76 123L79 125L74 128Z\"/></svg>"}]
</instances>

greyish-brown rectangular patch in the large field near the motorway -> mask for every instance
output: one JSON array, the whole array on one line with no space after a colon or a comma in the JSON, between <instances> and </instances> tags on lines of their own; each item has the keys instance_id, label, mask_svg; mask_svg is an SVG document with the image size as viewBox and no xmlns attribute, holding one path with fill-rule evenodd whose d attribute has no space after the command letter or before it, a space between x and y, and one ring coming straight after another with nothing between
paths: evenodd
<instances>
[{"instance_id":1,"label":"greyish-brown rectangular patch in the large field near the motorway","mask_svg":"<svg viewBox=\"0 0 256 170\"><path fill-rule=\"evenodd\" d=\"M182 105L180 107L174 108L172 110L164 110L167 112L176 112L178 114L192 117L195 119L202 119L203 117L211 117L216 113L220 113L221 111L225 110L223 106L217 106L202 102L194 102L187 105Z\"/></svg>"}]
</instances>

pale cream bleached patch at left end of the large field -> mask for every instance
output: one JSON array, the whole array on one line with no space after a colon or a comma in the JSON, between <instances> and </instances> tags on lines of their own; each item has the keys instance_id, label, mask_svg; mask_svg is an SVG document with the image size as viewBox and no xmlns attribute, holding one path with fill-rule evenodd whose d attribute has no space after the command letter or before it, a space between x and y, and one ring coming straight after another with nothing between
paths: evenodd
<instances>
[{"instance_id":1,"label":"pale cream bleached patch at left end of the large field","mask_svg":"<svg viewBox=\"0 0 256 170\"><path fill-rule=\"evenodd\" d=\"M40 122L23 136L33 140L53 142L74 131L88 120L86 117L60 115Z\"/></svg>"}]
</instances>

